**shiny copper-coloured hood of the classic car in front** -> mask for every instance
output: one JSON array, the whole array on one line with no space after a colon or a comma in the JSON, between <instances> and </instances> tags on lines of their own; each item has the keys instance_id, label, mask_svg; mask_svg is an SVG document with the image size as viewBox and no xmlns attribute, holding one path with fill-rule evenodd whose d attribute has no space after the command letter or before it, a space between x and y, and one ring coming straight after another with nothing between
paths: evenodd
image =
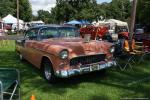
<instances>
[{"instance_id":1,"label":"shiny copper-coloured hood of the classic car in front","mask_svg":"<svg viewBox=\"0 0 150 100\"><path fill-rule=\"evenodd\" d=\"M112 46L112 43L105 41L84 42L82 38L45 39L40 44L42 44L41 46L44 45L44 48L38 46L39 48L53 54L59 54L64 49L68 50L71 58L79 55L107 54Z\"/></svg>"}]
</instances>

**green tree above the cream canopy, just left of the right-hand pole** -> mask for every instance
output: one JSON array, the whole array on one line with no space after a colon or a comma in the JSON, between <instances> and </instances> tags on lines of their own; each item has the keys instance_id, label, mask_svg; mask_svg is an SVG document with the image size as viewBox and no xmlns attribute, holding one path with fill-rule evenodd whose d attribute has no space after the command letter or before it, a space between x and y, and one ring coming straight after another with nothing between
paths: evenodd
<instances>
[{"instance_id":1,"label":"green tree above the cream canopy, just left of the right-hand pole","mask_svg":"<svg viewBox=\"0 0 150 100\"><path fill-rule=\"evenodd\" d=\"M112 0L111 3L101 4L106 13L106 18L126 20L130 16L130 0Z\"/></svg>"}]
</instances>

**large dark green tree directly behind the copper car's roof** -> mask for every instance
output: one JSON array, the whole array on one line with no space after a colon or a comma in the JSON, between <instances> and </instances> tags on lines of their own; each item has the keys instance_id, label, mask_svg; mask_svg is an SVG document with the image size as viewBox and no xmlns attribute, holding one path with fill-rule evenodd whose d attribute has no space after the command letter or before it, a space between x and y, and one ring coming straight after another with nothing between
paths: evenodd
<instances>
[{"instance_id":1,"label":"large dark green tree directly behind the copper car's roof","mask_svg":"<svg viewBox=\"0 0 150 100\"><path fill-rule=\"evenodd\" d=\"M69 21L72 19L90 19L92 20L96 13L96 0L56 0L56 7L52 9L52 15L55 16L57 23Z\"/></svg>"}]
</instances>

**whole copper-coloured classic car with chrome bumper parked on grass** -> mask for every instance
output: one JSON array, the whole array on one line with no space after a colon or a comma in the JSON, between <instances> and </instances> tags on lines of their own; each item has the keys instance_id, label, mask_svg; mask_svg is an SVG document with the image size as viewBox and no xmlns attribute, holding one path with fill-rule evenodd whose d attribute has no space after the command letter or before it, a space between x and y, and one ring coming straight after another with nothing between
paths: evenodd
<instances>
[{"instance_id":1,"label":"whole copper-coloured classic car with chrome bumper parked on grass","mask_svg":"<svg viewBox=\"0 0 150 100\"><path fill-rule=\"evenodd\" d=\"M20 59L41 69L46 80L102 70L115 64L112 43L81 38L75 27L42 25L16 41Z\"/></svg>"}]
</instances>

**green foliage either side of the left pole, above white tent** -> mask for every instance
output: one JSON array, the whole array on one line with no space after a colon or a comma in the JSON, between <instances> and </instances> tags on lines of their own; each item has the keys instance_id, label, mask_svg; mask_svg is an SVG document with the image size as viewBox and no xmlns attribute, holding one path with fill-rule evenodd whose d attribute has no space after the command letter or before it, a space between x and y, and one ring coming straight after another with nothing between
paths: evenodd
<instances>
[{"instance_id":1,"label":"green foliage either side of the left pole, above white tent","mask_svg":"<svg viewBox=\"0 0 150 100\"><path fill-rule=\"evenodd\" d=\"M32 9L29 0L19 0L20 19L30 21L32 19ZM1 0L0 2L0 17L5 17L8 14L17 16L16 0Z\"/></svg>"}]
</instances>

